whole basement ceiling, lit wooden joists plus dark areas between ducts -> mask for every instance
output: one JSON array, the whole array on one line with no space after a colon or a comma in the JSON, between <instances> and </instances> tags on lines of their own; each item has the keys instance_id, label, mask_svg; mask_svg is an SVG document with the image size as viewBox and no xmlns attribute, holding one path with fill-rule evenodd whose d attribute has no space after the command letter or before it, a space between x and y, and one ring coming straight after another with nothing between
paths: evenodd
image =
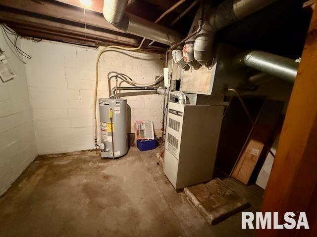
<instances>
[{"instance_id":1,"label":"whole basement ceiling, lit wooden joists plus dark areas between ducts","mask_svg":"<svg viewBox=\"0 0 317 237\"><path fill-rule=\"evenodd\" d=\"M127 11L155 21L178 0L129 0ZM216 5L221 0L208 1ZM311 12L303 9L306 0L277 0L217 34L217 41L244 49L258 49L297 58L303 50ZM167 26L193 0L185 0L159 24ZM142 38L122 32L103 16L103 0L91 0L84 10L81 0L0 0L0 22L24 37L55 40L89 46L139 46ZM188 12L172 29L187 36L197 7ZM261 24L259 24L261 22ZM86 28L85 28L86 23ZM154 43L142 50L164 53L167 45Z\"/></svg>"}]
</instances>

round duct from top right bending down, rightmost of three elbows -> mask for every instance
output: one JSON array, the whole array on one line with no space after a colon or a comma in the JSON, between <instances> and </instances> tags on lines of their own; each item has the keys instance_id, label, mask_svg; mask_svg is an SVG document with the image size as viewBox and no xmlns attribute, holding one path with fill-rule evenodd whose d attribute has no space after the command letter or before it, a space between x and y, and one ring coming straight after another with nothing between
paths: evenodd
<instances>
[{"instance_id":1,"label":"round duct from top right bending down, rightmost of three elbows","mask_svg":"<svg viewBox=\"0 0 317 237\"><path fill-rule=\"evenodd\" d=\"M194 43L194 57L201 65L211 60L216 31L264 8L275 0L225 0L211 8L204 18L203 29Z\"/></svg>"}]
</instances>

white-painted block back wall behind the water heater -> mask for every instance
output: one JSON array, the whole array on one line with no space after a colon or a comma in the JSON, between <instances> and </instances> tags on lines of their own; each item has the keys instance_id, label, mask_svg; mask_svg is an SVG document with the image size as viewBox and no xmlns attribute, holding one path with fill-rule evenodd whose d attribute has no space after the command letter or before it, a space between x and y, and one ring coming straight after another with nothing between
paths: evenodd
<instances>
[{"instance_id":1,"label":"white-painted block back wall behind the water heater","mask_svg":"<svg viewBox=\"0 0 317 237\"><path fill-rule=\"evenodd\" d=\"M22 48L32 57L25 68L39 154L93 148L93 97L99 51L31 40L22 40ZM147 83L162 74L163 64L164 60L157 54L104 53L99 67L98 98L108 97L108 72L124 73L140 83ZM112 87L114 85L113 80ZM126 86L125 83L121 85ZM131 107L129 132L133 132L133 121L138 119L153 120L156 130L161 127L162 96L146 93L122 91L129 95L123 97Z\"/></svg>"}]
</instances>

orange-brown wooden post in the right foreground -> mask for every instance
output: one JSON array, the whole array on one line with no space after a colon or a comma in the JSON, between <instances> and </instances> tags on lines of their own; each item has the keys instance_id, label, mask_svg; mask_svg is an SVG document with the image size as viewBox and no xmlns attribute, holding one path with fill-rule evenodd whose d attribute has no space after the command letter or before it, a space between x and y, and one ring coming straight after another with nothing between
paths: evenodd
<instances>
[{"instance_id":1,"label":"orange-brown wooden post in the right foreground","mask_svg":"<svg viewBox=\"0 0 317 237\"><path fill-rule=\"evenodd\" d=\"M258 230L258 237L317 236L317 10L299 65L262 211L308 213L311 230ZM310 208L314 208L311 210ZM313 212L313 214L310 212Z\"/></svg>"}]
</instances>

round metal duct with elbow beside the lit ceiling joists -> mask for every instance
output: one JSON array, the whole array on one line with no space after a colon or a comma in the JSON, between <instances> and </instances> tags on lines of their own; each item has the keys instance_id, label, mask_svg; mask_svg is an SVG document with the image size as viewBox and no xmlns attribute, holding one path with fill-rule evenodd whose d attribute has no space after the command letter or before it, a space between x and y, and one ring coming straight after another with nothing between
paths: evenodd
<instances>
[{"instance_id":1,"label":"round metal duct with elbow beside the lit ceiling joists","mask_svg":"<svg viewBox=\"0 0 317 237\"><path fill-rule=\"evenodd\" d=\"M104 0L104 17L119 30L167 45L181 40L176 31L125 12L128 0Z\"/></svg>"}]
</instances>

